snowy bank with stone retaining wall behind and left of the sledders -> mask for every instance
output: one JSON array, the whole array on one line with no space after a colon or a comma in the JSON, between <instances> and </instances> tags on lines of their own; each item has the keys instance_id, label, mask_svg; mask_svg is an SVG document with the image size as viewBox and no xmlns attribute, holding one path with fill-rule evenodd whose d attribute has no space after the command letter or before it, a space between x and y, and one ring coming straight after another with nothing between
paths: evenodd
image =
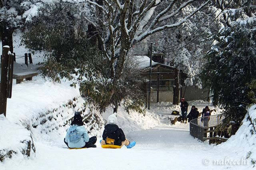
<instances>
[{"instance_id":1,"label":"snowy bank with stone retaining wall behind and left of the sledders","mask_svg":"<svg viewBox=\"0 0 256 170\"><path fill-rule=\"evenodd\" d=\"M63 142L75 111L81 111L88 132L100 136L104 119L80 96L79 87L61 80L54 83L36 76L35 80L14 84L7 100L7 118L30 129L37 141Z\"/></svg>"}]
</instances>

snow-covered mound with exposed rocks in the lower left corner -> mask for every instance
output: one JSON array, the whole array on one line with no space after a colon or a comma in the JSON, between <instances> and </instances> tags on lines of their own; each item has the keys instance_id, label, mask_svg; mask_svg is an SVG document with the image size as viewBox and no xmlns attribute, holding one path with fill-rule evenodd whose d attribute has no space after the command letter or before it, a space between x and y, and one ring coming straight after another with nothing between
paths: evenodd
<instances>
[{"instance_id":1,"label":"snow-covered mound with exposed rocks in the lower left corner","mask_svg":"<svg viewBox=\"0 0 256 170\"><path fill-rule=\"evenodd\" d=\"M30 157L35 155L31 133L24 127L10 122L0 115L0 162L14 155Z\"/></svg>"}]
</instances>

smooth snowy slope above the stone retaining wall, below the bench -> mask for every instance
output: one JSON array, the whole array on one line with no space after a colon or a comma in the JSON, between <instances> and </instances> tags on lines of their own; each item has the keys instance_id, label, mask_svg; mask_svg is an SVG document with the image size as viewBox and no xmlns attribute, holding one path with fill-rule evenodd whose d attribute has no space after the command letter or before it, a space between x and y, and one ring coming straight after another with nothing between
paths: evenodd
<instances>
[{"instance_id":1,"label":"smooth snowy slope above the stone retaining wall, below the bench","mask_svg":"<svg viewBox=\"0 0 256 170\"><path fill-rule=\"evenodd\" d=\"M20 84L13 82L12 98L7 100L6 113L10 121L33 117L35 113L58 108L60 104L80 96L78 88L70 87L69 81L62 80L58 84L45 81L40 76L33 78Z\"/></svg>"}]
</instances>

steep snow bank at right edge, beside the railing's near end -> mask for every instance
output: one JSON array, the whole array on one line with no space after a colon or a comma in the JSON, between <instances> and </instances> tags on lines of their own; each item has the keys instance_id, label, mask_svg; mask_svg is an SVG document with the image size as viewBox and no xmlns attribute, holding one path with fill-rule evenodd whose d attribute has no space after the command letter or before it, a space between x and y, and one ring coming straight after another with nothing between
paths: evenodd
<instances>
[{"instance_id":1,"label":"steep snow bank at right edge, beside the railing's near end","mask_svg":"<svg viewBox=\"0 0 256 170\"><path fill-rule=\"evenodd\" d=\"M228 141L217 145L216 148L236 150L237 157L245 157L252 166L256 162L256 105L249 107L242 125Z\"/></svg>"}]
</instances>

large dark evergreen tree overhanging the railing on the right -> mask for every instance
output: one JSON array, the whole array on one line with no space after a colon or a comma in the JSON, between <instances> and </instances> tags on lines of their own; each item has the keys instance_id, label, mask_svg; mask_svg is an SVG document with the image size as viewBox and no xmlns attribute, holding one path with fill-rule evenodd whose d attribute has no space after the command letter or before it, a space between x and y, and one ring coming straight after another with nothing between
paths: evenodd
<instances>
[{"instance_id":1,"label":"large dark evergreen tree overhanging the railing on the right","mask_svg":"<svg viewBox=\"0 0 256 170\"><path fill-rule=\"evenodd\" d=\"M234 25L221 29L212 40L202 82L210 87L213 103L225 109L226 123L240 122L255 97L250 84L256 78L256 29Z\"/></svg>"}]
</instances>

